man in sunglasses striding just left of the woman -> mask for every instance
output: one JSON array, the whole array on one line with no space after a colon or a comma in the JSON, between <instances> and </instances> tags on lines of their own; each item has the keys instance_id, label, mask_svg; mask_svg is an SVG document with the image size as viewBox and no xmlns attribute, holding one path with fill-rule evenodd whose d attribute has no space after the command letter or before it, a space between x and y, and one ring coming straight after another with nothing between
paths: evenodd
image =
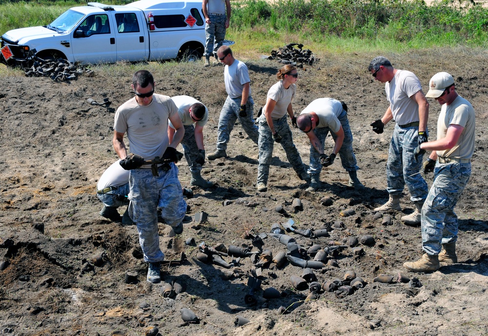
<instances>
[{"instance_id":1,"label":"man in sunglasses striding just left of the woman","mask_svg":"<svg viewBox=\"0 0 488 336\"><path fill-rule=\"evenodd\" d=\"M251 97L251 80L249 70L244 62L232 56L232 50L223 45L217 50L217 57L225 64L224 82L227 99L220 111L219 126L217 130L217 151L207 156L209 160L226 158L227 142L230 132L237 119L241 122L249 138L258 144L258 126L252 118L254 113L254 100Z\"/></svg>"}]
</instances>

